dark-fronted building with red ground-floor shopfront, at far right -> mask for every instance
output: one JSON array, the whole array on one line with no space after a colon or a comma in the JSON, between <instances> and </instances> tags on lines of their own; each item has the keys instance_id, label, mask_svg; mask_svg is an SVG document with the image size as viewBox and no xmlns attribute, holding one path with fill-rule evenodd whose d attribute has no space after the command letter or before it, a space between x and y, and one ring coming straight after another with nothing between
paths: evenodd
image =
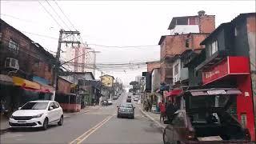
<instances>
[{"instance_id":1,"label":"dark-fronted building with red ground-floor shopfront, at far right","mask_svg":"<svg viewBox=\"0 0 256 144\"><path fill-rule=\"evenodd\" d=\"M255 140L255 19L256 13L240 14L218 26L202 41L206 60L195 68L202 71L203 86L234 86L241 90L233 111L249 129L252 140Z\"/></svg>"}]
</instances>

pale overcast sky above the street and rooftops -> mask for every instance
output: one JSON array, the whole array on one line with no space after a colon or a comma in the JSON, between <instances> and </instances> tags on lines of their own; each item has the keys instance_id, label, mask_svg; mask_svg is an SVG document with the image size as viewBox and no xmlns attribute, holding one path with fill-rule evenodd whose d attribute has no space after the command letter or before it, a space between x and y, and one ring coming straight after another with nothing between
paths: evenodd
<instances>
[{"instance_id":1,"label":"pale overcast sky above the street and rooftops","mask_svg":"<svg viewBox=\"0 0 256 144\"><path fill-rule=\"evenodd\" d=\"M54 14L46 1L40 2L65 30L74 30L54 1L48 2L68 27ZM205 10L206 14L215 15L217 27L223 22L230 22L238 14L255 12L255 1L58 1L58 5L74 27L81 32L83 41L88 44L150 46L116 48L89 45L101 51L97 54L97 63L158 60L159 46L155 45L158 45L161 35L170 34L167 27L173 17L196 15L199 10ZM58 39L56 38L61 27L54 22L46 10L38 1L1 1L1 18L53 53L57 50ZM145 66L136 66L126 72L120 69L103 72L121 78L127 85L145 70ZM96 74L96 78L99 74Z\"/></svg>"}]
</instances>

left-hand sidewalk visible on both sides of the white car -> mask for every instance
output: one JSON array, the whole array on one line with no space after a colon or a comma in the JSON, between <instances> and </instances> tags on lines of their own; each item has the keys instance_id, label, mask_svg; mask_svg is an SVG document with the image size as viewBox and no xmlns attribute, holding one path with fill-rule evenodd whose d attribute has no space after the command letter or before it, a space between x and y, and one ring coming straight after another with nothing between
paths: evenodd
<instances>
[{"instance_id":1,"label":"left-hand sidewalk visible on both sides of the white car","mask_svg":"<svg viewBox=\"0 0 256 144\"><path fill-rule=\"evenodd\" d=\"M69 118L72 115L78 115L78 114L84 114L89 112L90 110L98 110L101 106L86 106L85 108L83 108L81 111L79 112L74 112L74 113L66 113L64 112L64 118ZM6 117L2 117L0 118L0 134L2 134L3 132L5 132L6 130L8 130L9 128L9 118Z\"/></svg>"}]
</instances>

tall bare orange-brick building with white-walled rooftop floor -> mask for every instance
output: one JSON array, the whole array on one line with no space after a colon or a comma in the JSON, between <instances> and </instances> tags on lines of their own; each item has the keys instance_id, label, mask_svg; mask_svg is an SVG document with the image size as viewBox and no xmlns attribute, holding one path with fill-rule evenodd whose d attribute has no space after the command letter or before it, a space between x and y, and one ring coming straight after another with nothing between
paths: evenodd
<instances>
[{"instance_id":1,"label":"tall bare orange-brick building with white-walled rooftop floor","mask_svg":"<svg viewBox=\"0 0 256 144\"><path fill-rule=\"evenodd\" d=\"M215 28L215 16L199 11L198 15L174 17L168 30L171 35L160 38L160 72L161 82L173 84L173 59L185 50L203 49L200 45Z\"/></svg>"}]
</instances>

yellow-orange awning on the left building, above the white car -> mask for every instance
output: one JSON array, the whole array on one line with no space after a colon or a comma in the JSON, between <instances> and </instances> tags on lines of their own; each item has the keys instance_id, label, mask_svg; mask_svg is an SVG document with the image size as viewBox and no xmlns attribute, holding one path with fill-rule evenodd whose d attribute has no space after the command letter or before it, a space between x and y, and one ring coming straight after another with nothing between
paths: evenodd
<instances>
[{"instance_id":1,"label":"yellow-orange awning on the left building, above the white car","mask_svg":"<svg viewBox=\"0 0 256 144\"><path fill-rule=\"evenodd\" d=\"M35 90L40 90L40 85L37 82L31 82L29 80L19 78L19 77L12 77L14 86L22 86L24 88L30 88Z\"/></svg>"}]
</instances>

